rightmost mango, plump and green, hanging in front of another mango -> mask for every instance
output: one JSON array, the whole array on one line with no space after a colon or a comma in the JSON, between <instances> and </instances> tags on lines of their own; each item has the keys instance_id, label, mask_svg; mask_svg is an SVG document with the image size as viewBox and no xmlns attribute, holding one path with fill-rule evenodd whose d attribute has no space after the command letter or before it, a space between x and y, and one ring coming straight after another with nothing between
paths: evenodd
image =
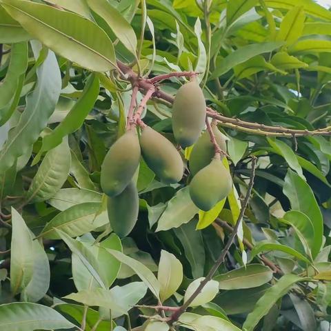
<instances>
[{"instance_id":1,"label":"rightmost mango, plump and green, hanging in front of another mango","mask_svg":"<svg viewBox=\"0 0 331 331\"><path fill-rule=\"evenodd\" d=\"M228 196L232 189L230 172L220 157L212 159L201 169L190 183L190 197L195 205L205 212Z\"/></svg>"}]
</instances>

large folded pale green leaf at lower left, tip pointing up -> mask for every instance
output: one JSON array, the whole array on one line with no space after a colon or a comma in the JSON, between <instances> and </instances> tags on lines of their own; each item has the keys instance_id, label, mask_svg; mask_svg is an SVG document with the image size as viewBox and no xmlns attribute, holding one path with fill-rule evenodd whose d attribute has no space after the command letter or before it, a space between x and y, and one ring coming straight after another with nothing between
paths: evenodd
<instances>
[{"instance_id":1,"label":"large folded pale green leaf at lower left, tip pointing up","mask_svg":"<svg viewBox=\"0 0 331 331\"><path fill-rule=\"evenodd\" d=\"M39 301L50 285L48 257L39 241L12 208L10 287L28 301Z\"/></svg>"}]
</instances>

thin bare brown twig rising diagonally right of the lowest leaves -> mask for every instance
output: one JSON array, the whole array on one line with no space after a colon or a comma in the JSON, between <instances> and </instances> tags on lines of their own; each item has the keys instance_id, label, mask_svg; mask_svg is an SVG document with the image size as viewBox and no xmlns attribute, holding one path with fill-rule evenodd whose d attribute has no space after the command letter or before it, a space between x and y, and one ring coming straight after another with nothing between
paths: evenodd
<instances>
[{"instance_id":1,"label":"thin bare brown twig rising diagonally right of the lowest leaves","mask_svg":"<svg viewBox=\"0 0 331 331\"><path fill-rule=\"evenodd\" d=\"M172 322L177 321L179 319L179 317L181 316L181 314L183 314L183 312L185 312L185 310L188 309L188 307L190 306L192 301L194 301L194 299L199 295L199 293L205 287L205 285L208 283L208 281L210 281L212 279L215 272L217 272L217 269L223 263L225 256L228 253L228 250L230 250L230 247L234 241L234 238L237 236L239 226L241 225L241 221L243 219L243 214L245 213L245 210L248 205L248 200L250 199L250 194L252 192L252 188L254 185L256 162L257 162L257 159L256 159L256 157L253 156L252 157L252 170L251 170L251 174L250 174L250 183L248 184L248 190L246 192L245 199L243 200L243 203L241 205L241 210L240 210L239 217L237 219L237 223L236 223L236 225L234 225L233 231L230 234L228 242L225 244L221 254L219 255L219 259L217 259L217 261L214 263L214 265L212 266L212 269L210 269L210 272L208 273L207 277L205 277L205 279L203 279L203 281L201 281L197 290L195 290L193 292L193 294L188 298L187 301L185 301L185 303L179 308L179 310L177 310L176 312L174 312L171 315Z\"/></svg>"}]
</instances>

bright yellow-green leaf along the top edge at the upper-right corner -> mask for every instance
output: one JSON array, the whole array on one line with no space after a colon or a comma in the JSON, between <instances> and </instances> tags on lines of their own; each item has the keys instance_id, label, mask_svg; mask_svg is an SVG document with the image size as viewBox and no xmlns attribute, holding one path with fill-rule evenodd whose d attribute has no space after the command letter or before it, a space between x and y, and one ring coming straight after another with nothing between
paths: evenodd
<instances>
[{"instance_id":1,"label":"bright yellow-green leaf along the top edge at the upper-right corner","mask_svg":"<svg viewBox=\"0 0 331 331\"><path fill-rule=\"evenodd\" d=\"M315 3L312 0L265 0L265 4L271 8L292 9L297 6L303 6L306 14L330 21L331 13Z\"/></svg>"}]
</instances>

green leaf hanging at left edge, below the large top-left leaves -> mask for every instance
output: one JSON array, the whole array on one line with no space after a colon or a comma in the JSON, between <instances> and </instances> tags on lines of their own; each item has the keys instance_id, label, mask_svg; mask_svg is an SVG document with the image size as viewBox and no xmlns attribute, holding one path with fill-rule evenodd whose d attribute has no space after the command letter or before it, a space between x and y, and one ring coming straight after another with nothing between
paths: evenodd
<instances>
[{"instance_id":1,"label":"green leaf hanging at left edge, below the large top-left leaves","mask_svg":"<svg viewBox=\"0 0 331 331\"><path fill-rule=\"evenodd\" d=\"M25 74L28 68L28 44L14 43L10 50L10 63L6 77L0 85L0 120L3 117L3 109L15 94L19 87L19 78Z\"/></svg>"}]
</instances>

